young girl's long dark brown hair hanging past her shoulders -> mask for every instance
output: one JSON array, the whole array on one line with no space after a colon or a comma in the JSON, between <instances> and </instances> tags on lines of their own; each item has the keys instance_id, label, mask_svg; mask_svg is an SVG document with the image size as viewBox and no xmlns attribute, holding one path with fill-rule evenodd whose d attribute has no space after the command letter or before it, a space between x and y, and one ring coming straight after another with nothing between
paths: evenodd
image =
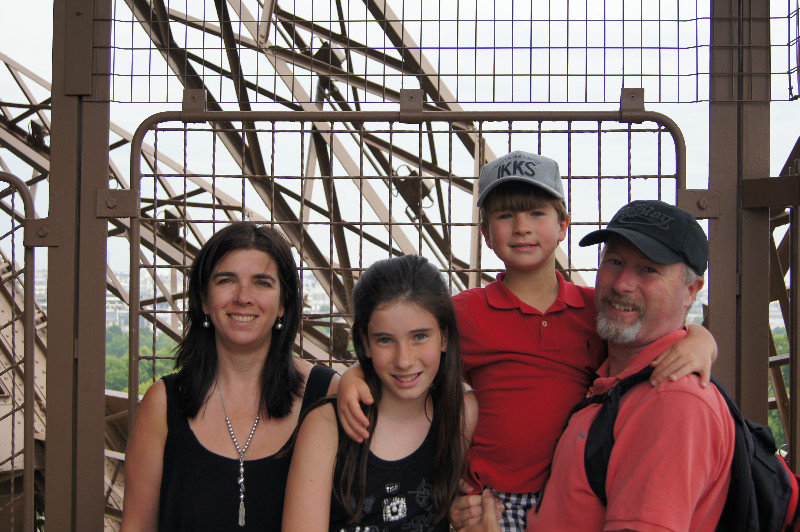
<instances>
[{"instance_id":1,"label":"young girl's long dark brown hair hanging past her shoulders","mask_svg":"<svg viewBox=\"0 0 800 532\"><path fill-rule=\"evenodd\" d=\"M337 469L340 468L342 474L335 492L351 520L357 519L363 506L367 457L381 400L381 381L372 360L367 357L367 328L375 309L393 302L415 303L433 314L442 337L447 340L447 349L442 353L439 371L429 391L434 408L431 430L437 434L431 484L439 521L447 516L464 468L464 388L458 329L447 284L439 270L418 255L376 262L364 272L353 290L353 346L375 402L365 408L369 438L364 443L340 438Z\"/></svg>"}]
</instances>

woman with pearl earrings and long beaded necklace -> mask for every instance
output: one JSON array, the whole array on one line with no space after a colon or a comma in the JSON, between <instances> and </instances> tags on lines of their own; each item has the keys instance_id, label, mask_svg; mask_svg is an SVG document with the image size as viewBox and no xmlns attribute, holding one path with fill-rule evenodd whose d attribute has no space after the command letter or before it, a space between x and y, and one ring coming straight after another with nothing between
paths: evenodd
<instances>
[{"instance_id":1,"label":"woman with pearl earrings and long beaded necklace","mask_svg":"<svg viewBox=\"0 0 800 532\"><path fill-rule=\"evenodd\" d=\"M302 294L289 244L270 227L225 227L197 254L188 298L178 371L147 391L128 442L122 529L279 531L287 442L338 384L292 355Z\"/></svg>"}]
</instances>

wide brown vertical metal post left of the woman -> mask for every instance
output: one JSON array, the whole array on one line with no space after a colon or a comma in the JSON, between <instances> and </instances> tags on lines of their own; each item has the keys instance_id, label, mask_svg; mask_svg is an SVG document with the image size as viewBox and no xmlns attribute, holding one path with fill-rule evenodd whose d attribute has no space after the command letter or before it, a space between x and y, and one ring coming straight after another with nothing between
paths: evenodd
<instances>
[{"instance_id":1,"label":"wide brown vertical metal post left of the woman","mask_svg":"<svg viewBox=\"0 0 800 532\"><path fill-rule=\"evenodd\" d=\"M51 530L103 528L110 0L55 0L45 512Z\"/></svg>"}]
</instances>

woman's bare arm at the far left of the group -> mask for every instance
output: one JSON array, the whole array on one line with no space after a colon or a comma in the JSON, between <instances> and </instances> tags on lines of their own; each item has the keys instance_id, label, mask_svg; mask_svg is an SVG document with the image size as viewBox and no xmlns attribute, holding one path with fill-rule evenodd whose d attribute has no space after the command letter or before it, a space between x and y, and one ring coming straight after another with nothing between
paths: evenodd
<instances>
[{"instance_id":1,"label":"woman's bare arm at the far left of the group","mask_svg":"<svg viewBox=\"0 0 800 532\"><path fill-rule=\"evenodd\" d=\"M125 502L122 532L158 529L158 498L167 441L167 392L153 384L136 412L125 452Z\"/></svg>"}]
</instances>

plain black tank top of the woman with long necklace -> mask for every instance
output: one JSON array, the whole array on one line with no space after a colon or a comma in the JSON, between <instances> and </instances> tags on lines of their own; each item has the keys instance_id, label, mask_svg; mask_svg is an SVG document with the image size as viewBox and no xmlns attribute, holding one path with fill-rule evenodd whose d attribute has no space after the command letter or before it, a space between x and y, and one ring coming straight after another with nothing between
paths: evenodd
<instances>
[{"instance_id":1,"label":"plain black tank top of the woman with long necklace","mask_svg":"<svg viewBox=\"0 0 800 532\"><path fill-rule=\"evenodd\" d=\"M334 371L314 366L303 395L303 408L324 397ZM238 526L239 461L203 447L178 410L174 375L164 377L167 391L167 440L161 475L158 528L161 532L280 532L283 495L291 452L245 460L245 526Z\"/></svg>"}]
</instances>

